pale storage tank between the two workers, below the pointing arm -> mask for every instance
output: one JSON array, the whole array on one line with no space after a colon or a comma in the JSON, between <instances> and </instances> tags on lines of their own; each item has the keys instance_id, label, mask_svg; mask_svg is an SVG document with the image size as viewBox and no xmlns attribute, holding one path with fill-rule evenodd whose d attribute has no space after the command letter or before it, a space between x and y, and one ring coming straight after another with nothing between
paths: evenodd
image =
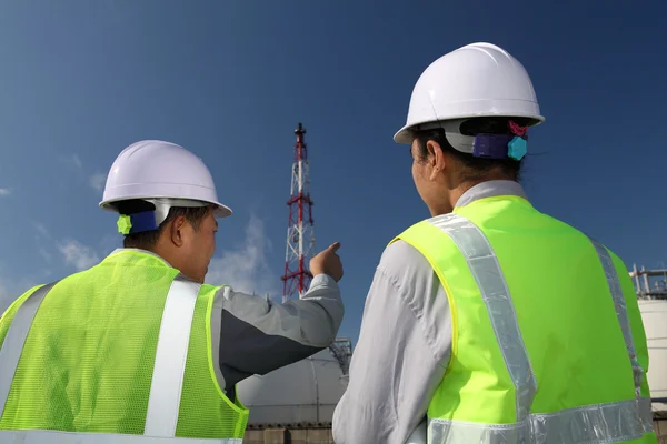
<instances>
[{"instance_id":1,"label":"pale storage tank between the two workers, below the pointing arm","mask_svg":"<svg viewBox=\"0 0 667 444\"><path fill-rule=\"evenodd\" d=\"M347 386L350 356L349 340L337 340L310 357L241 381L237 391L250 410L248 424L330 426Z\"/></svg>"}]
</instances>

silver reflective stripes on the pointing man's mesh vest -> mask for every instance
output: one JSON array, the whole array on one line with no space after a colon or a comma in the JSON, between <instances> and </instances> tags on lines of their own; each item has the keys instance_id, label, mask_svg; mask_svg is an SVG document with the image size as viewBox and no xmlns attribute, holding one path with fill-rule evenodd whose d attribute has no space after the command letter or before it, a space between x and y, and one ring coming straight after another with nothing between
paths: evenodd
<instances>
[{"instance_id":1,"label":"silver reflective stripes on the pointing man's mesh vest","mask_svg":"<svg viewBox=\"0 0 667 444\"><path fill-rule=\"evenodd\" d=\"M41 301L52 286L53 284L42 286L28 296L23 304L18 309L8 330L7 337L0 350L0 417L9 396L13 375L19 365L19 360L30 326ZM94 442L100 442L100 438L108 436L109 442L119 443L130 443L145 437L150 437L153 441L157 441L158 438L173 438L178 423L178 412L186 371L190 330L192 317L195 315L195 304L200 287L201 284L192 282L179 274L172 281L169 293L167 294L158 335L143 435L17 431L0 432L0 441L6 442L4 437L12 437L21 443L43 442L40 440L50 440L58 443L66 441L71 442L76 436L77 442L83 443L88 441L84 438L84 436L88 435L91 436L90 440L94 440ZM52 434L53 436L47 438L44 433ZM126 441L118 441L119 436ZM183 442L191 442L189 438L179 438L179 442L180 440L185 440ZM197 440L192 442L197 442ZM240 441L205 440L201 442L235 443Z\"/></svg>"}]
</instances>

